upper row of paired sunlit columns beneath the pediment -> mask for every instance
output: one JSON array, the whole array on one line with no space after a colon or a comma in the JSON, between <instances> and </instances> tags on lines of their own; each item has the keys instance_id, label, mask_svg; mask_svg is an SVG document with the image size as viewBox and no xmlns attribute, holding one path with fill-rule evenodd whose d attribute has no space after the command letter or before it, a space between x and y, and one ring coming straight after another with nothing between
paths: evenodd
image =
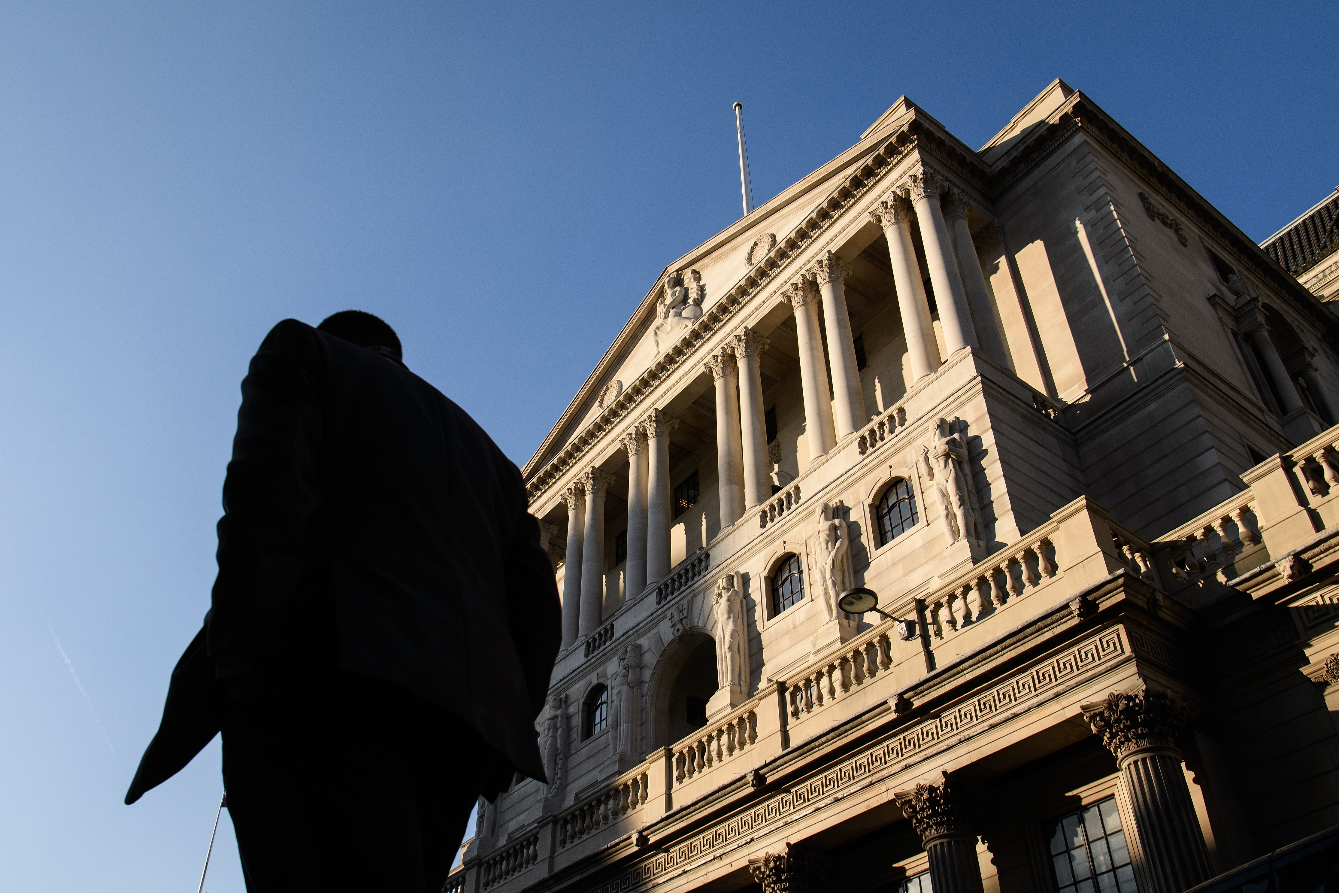
<instances>
[{"instance_id":1,"label":"upper row of paired sunlit columns beneath the pediment","mask_svg":"<svg viewBox=\"0 0 1339 893\"><path fill-rule=\"evenodd\" d=\"M959 193L949 191L945 214L940 202L940 193L945 186L940 178L921 169L908 182L908 197L894 190L869 216L884 228L888 237L907 351L911 355L913 379L919 382L939 368L941 357L912 241L913 209L948 353L983 345L988 353L1002 356L1003 349L999 347L1002 341L986 277L967 228L965 199ZM783 289L795 320L810 459L825 455L869 420L846 308L845 281L850 272L850 264L826 250ZM819 327L819 312L823 327ZM977 333L981 333L980 341ZM722 529L771 495L759 367L759 357L766 349L767 339L746 327L703 361L703 367L711 372L716 392ZM663 410L653 410L620 440L628 454L625 586L629 596L640 593L670 573L670 431L676 426L678 419ZM600 628L607 486L608 475L592 467L564 494L568 503L566 572L562 585L564 648Z\"/></svg>"}]
</instances>

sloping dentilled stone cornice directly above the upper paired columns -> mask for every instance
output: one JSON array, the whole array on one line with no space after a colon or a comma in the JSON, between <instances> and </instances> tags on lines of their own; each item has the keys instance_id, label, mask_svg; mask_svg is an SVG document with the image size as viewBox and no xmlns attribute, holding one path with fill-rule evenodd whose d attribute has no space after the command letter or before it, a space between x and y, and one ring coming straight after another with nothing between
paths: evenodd
<instances>
[{"instance_id":1,"label":"sloping dentilled stone cornice directly above the upper paired columns","mask_svg":"<svg viewBox=\"0 0 1339 893\"><path fill-rule=\"evenodd\" d=\"M886 174L897 167L907 155L917 147L916 137L907 127L902 127L880 143L869 154L860 159L852 171L841 178L841 182L828 194L828 197L814 208L799 224L794 226L783 238L778 238L775 248L767 252L762 260L750 268L738 282L726 291L707 312L690 328L675 344L667 347L660 356L635 382L627 384L623 392L605 410L590 420L585 428L574 434L564 449L540 467L526 465L526 491L533 501L534 497L548 490L549 485L558 479L572 465L581 459L592 446L595 446L609 428L615 427L629 414L635 414L645 407L640 407L643 398L649 394L671 371L678 368L684 359L690 357L698 345L714 333L722 324L731 320L736 312L753 297L775 281L785 281L795 276L797 260L817 236L828 230L832 224L858 199L866 195L876 185L881 183ZM676 265L678 268L678 265ZM655 289L652 291L655 293ZM639 311L640 313L640 311ZM589 382L588 382L589 384ZM576 403L576 402L574 402ZM570 410L569 410L570 411ZM558 428L556 427L554 431ZM550 432L546 443L553 439ZM542 451L544 447L541 447ZM536 455L540 455L537 453Z\"/></svg>"}]
</instances>

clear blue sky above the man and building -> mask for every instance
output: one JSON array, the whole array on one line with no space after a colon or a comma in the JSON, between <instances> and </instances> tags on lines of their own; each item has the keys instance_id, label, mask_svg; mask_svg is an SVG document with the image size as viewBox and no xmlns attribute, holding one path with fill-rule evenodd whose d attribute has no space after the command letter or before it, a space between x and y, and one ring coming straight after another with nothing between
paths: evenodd
<instances>
[{"instance_id":1,"label":"clear blue sky above the man and building","mask_svg":"<svg viewBox=\"0 0 1339 893\"><path fill-rule=\"evenodd\" d=\"M1060 76L1263 238L1339 182L1336 12L3 4L0 889L194 889L217 742L121 799L277 320L384 316L522 463L739 214L734 100L761 202L901 94L977 146ZM206 888L242 889L226 818Z\"/></svg>"}]
</instances>

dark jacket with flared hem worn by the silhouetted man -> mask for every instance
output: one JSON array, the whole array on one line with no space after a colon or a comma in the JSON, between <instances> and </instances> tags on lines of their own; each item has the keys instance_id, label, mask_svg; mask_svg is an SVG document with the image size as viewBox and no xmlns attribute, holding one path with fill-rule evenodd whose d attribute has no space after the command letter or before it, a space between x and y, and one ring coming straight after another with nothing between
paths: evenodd
<instances>
[{"instance_id":1,"label":"dark jacket with flared hem worn by the silhouetted man","mask_svg":"<svg viewBox=\"0 0 1339 893\"><path fill-rule=\"evenodd\" d=\"M561 613L526 503L516 465L431 384L276 325L242 382L213 605L126 802L213 739L220 683L276 672L308 613L339 669L446 708L503 758L485 795L513 771L542 779L534 719Z\"/></svg>"}]
</instances>

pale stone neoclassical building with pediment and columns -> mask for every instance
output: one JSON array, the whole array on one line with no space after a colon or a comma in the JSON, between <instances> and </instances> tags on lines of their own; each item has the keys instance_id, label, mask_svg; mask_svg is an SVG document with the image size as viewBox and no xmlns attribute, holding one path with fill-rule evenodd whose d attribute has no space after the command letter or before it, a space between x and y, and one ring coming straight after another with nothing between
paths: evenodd
<instances>
[{"instance_id":1,"label":"pale stone neoclassical building with pediment and columns","mask_svg":"<svg viewBox=\"0 0 1339 893\"><path fill-rule=\"evenodd\" d=\"M447 888L1181 893L1339 823L1336 348L1065 83L979 150L898 99L526 465L549 783Z\"/></svg>"}]
</instances>

